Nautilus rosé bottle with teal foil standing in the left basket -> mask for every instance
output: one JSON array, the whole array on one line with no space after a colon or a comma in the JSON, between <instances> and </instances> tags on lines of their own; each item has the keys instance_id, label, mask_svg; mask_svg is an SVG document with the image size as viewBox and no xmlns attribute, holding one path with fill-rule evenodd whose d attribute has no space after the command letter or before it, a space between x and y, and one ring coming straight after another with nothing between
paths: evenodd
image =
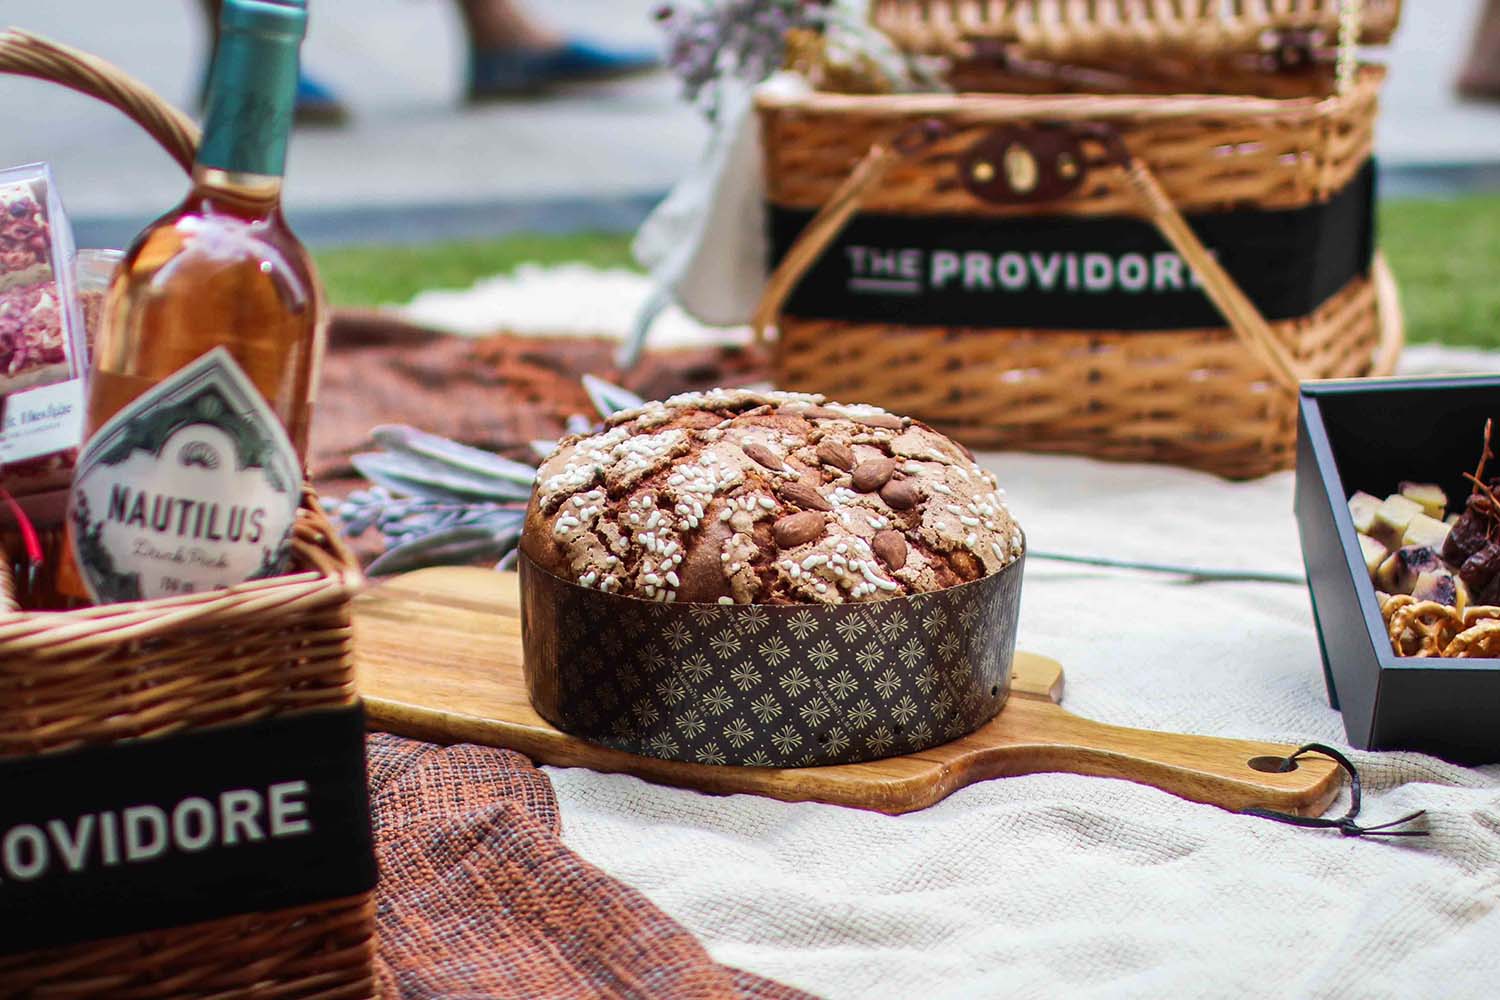
<instances>
[{"instance_id":1,"label":"Nautilus ros\u00e9 bottle with teal foil standing in the left basket","mask_svg":"<svg viewBox=\"0 0 1500 1000\"><path fill-rule=\"evenodd\" d=\"M280 210L306 19L302 0L224 0L192 190L136 237L105 297L68 519L76 597L284 568L326 322Z\"/></svg>"}]
</instances>

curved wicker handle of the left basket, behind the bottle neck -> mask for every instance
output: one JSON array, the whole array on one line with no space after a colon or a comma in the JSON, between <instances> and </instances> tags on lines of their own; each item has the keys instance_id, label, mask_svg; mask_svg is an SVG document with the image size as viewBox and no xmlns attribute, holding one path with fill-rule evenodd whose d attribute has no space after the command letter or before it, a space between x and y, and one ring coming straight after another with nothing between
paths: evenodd
<instances>
[{"instance_id":1,"label":"curved wicker handle of the left basket, behind the bottle neck","mask_svg":"<svg viewBox=\"0 0 1500 1000\"><path fill-rule=\"evenodd\" d=\"M0 72L62 84L104 100L156 139L186 172L198 153L198 126L154 90L98 55L21 28L0 31Z\"/></svg>"}]
</instances>

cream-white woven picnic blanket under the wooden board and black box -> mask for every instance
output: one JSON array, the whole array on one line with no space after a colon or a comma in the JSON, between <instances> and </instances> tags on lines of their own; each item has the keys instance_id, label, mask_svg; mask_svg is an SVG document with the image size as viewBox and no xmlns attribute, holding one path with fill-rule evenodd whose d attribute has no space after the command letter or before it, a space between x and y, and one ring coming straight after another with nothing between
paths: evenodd
<instances>
[{"instance_id":1,"label":"cream-white woven picnic blanket under the wooden board and black box","mask_svg":"<svg viewBox=\"0 0 1500 1000\"><path fill-rule=\"evenodd\" d=\"M525 285L508 291L531 300ZM572 301L596 316L609 304ZM622 330L630 313L618 315ZM532 310L528 325L544 319ZM489 327L502 321L490 313ZM1500 355L1416 348L1407 369L1500 370ZM1300 571L1290 472L1226 483L984 460L1034 549ZM1064 705L1080 715L1346 745L1302 586L1032 561L1020 648L1065 664ZM885 817L548 772L573 849L720 961L826 997L1500 996L1500 766L1353 757L1362 819L1425 808L1430 838L1346 840L1072 775L987 781Z\"/></svg>"}]
</instances>

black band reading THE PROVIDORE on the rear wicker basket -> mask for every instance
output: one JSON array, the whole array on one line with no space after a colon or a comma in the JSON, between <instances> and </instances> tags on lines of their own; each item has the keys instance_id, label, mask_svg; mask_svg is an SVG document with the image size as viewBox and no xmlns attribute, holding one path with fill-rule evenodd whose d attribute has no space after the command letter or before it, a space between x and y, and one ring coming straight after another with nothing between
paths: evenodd
<instances>
[{"instance_id":1,"label":"black band reading THE PROVIDORE on the rear wicker basket","mask_svg":"<svg viewBox=\"0 0 1500 1000\"><path fill-rule=\"evenodd\" d=\"M1374 253L1374 162L1326 202L1200 213L1192 229L1268 321L1306 316ZM771 265L813 217L770 207ZM1222 327L1191 268L1130 216L860 213L792 291L802 319L1035 330Z\"/></svg>"}]
</instances>

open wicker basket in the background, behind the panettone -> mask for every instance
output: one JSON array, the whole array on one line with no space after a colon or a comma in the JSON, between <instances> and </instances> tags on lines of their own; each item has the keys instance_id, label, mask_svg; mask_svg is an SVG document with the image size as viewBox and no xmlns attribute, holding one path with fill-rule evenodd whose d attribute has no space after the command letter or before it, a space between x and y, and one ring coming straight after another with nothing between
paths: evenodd
<instances>
[{"instance_id":1,"label":"open wicker basket in the background, behind the panettone","mask_svg":"<svg viewBox=\"0 0 1500 1000\"><path fill-rule=\"evenodd\" d=\"M888 25L891 10L920 7L930 27L938 10L999 16L1020 6L891 3L876 18ZM915 43L912 31L898 37ZM1394 370L1402 343L1395 285L1372 255L1305 312L1268 322L1197 229L1232 211L1286 217L1341 195L1336 204L1368 220L1383 75L1352 61L1258 73L1275 81L1266 84L1275 96L762 94L772 222L777 213L796 220L754 318L758 331L777 331L778 384L909 412L976 447L1227 477L1288 466L1299 381ZM1348 202L1356 187L1364 205ZM996 235L1040 219L1054 229L1148 220L1222 325L1068 328L1050 316L1006 325L1004 301L993 321L969 324L924 322L921 304L878 321L800 312L800 285L831 265L836 240L864 216L982 223Z\"/></svg>"}]
</instances>

